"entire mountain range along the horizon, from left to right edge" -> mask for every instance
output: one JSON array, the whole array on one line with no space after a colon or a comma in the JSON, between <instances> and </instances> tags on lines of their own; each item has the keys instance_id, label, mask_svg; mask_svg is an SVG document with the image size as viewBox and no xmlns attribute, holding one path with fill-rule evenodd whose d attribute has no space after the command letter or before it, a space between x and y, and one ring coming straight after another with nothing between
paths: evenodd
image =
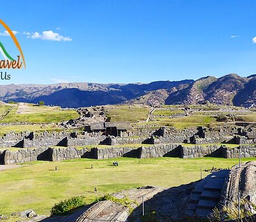
<instances>
[{"instance_id":1,"label":"entire mountain range along the horizon, from left to right edge","mask_svg":"<svg viewBox=\"0 0 256 222\"><path fill-rule=\"evenodd\" d=\"M198 80L157 81L148 84L60 83L0 85L3 102L45 102L78 108L106 104L204 104L256 107L256 75L203 77Z\"/></svg>"}]
</instances>

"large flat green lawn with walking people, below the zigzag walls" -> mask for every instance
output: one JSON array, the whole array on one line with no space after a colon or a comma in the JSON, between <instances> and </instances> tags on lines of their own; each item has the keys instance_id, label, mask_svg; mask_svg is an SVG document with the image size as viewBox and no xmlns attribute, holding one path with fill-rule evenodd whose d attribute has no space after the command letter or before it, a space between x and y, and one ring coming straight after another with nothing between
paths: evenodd
<instances>
[{"instance_id":1,"label":"large flat green lawn with walking people, below the zigzag walls","mask_svg":"<svg viewBox=\"0 0 256 222\"><path fill-rule=\"evenodd\" d=\"M118 160L118 167L112 162ZM247 162L255 158L244 158ZM22 167L0 171L0 213L32 208L50 214L56 202L70 196L85 195L87 203L122 189L142 185L178 186L200 179L200 167L228 168L238 159L223 158L119 158L109 160L76 159L62 162L29 162ZM91 168L93 164L94 169ZM57 165L58 171L55 171ZM203 171L203 176L208 173ZM97 194L93 193L95 186Z\"/></svg>"}]
</instances>

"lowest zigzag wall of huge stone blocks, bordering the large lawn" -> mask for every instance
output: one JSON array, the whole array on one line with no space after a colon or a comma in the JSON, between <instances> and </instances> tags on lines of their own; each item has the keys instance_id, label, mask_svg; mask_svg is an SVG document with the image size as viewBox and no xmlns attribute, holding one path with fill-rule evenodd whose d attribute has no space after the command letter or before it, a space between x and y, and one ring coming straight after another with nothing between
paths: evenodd
<instances>
[{"instance_id":1,"label":"lowest zigzag wall of huge stone blocks, bordering the large lawn","mask_svg":"<svg viewBox=\"0 0 256 222\"><path fill-rule=\"evenodd\" d=\"M255 145L241 145L242 157L256 157ZM228 148L218 145L183 146L161 144L150 147L107 147L107 148L37 148L17 151L1 150L0 164L17 164L35 160L61 161L77 158L110 159L119 157L157 158L157 157L223 157L238 158L239 147Z\"/></svg>"}]
</instances>

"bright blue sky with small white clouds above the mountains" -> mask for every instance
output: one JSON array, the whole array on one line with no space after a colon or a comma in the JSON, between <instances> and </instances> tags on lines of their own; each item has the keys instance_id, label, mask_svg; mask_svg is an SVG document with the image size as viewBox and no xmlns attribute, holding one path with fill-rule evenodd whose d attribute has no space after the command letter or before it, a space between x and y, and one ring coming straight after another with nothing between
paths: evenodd
<instances>
[{"instance_id":1,"label":"bright blue sky with small white clouds above the mountains","mask_svg":"<svg viewBox=\"0 0 256 222\"><path fill-rule=\"evenodd\" d=\"M8 70L11 80L0 84L256 73L256 1L6 1L4 8L1 19L18 32L27 68ZM16 56L11 37L0 32Z\"/></svg>"}]
</instances>

